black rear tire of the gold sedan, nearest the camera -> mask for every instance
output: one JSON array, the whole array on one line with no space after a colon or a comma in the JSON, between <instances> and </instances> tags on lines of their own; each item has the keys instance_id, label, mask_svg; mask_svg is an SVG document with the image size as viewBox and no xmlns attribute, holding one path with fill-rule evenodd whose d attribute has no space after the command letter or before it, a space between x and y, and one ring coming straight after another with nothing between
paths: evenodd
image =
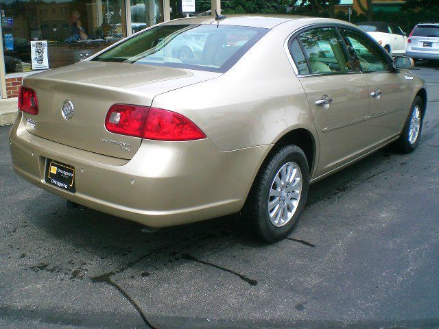
<instances>
[{"instance_id":1,"label":"black rear tire of the gold sedan, nearest the camera","mask_svg":"<svg viewBox=\"0 0 439 329\"><path fill-rule=\"evenodd\" d=\"M284 168L285 171L281 171ZM289 177L291 184L287 184L287 180L285 180L284 185L275 182L276 177L278 182L281 182L281 175ZM298 180L300 176L301 180ZM299 182L301 182L301 190ZM246 200L242 215L244 215L247 230L250 229L252 236L265 242L284 239L292 232L302 214L307 201L308 187L309 167L307 157L302 149L296 145L287 145L276 149L259 170ZM300 193L297 193L298 191ZM270 192L278 193L278 196L270 196ZM276 214L281 213L285 217L273 215L270 219L269 207L272 205L270 206L269 203L272 202L277 206L272 208L271 213L274 214L277 209ZM288 219L290 215L292 217ZM279 218L277 223L274 223L276 217Z\"/></svg>"}]
</instances>

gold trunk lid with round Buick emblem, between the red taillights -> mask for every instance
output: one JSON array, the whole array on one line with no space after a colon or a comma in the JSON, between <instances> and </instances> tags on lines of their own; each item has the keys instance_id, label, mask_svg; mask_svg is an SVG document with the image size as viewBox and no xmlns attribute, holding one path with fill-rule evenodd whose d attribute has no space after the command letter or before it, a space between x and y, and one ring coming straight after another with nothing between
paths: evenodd
<instances>
[{"instance_id":1,"label":"gold trunk lid with round Buick emblem, between the red taillights","mask_svg":"<svg viewBox=\"0 0 439 329\"><path fill-rule=\"evenodd\" d=\"M105 128L110 106L128 103L150 106L158 94L217 77L220 73L164 66L82 62L25 77L36 90L38 114L23 112L26 129L37 136L97 154L130 159L141 138L112 134ZM73 104L70 119L62 115Z\"/></svg>"}]
</instances>

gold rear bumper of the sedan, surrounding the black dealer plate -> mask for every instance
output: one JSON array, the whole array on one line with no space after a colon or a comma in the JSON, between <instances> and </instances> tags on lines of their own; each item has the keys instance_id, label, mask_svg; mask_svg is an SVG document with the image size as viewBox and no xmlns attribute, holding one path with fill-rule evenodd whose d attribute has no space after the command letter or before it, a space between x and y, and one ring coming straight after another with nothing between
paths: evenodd
<instances>
[{"instance_id":1,"label":"gold rear bumper of the sedan, surrounding the black dealer plate","mask_svg":"<svg viewBox=\"0 0 439 329\"><path fill-rule=\"evenodd\" d=\"M269 146L219 151L208 139L143 141L131 160L30 134L21 115L10 132L12 164L26 180L64 199L155 228L238 212ZM76 193L44 181L45 161L75 167Z\"/></svg>"}]
</instances>

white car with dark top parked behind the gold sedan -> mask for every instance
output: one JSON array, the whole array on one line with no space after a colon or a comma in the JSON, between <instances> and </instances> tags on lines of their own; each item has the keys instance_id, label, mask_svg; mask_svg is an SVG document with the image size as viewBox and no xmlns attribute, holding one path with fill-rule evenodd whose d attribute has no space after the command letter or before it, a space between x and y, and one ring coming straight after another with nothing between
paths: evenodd
<instances>
[{"instance_id":1,"label":"white car with dark top parked behind the gold sedan","mask_svg":"<svg viewBox=\"0 0 439 329\"><path fill-rule=\"evenodd\" d=\"M388 53L392 55L405 53L407 36L398 25L385 22L359 22L356 24L377 40Z\"/></svg>"}]
</instances>

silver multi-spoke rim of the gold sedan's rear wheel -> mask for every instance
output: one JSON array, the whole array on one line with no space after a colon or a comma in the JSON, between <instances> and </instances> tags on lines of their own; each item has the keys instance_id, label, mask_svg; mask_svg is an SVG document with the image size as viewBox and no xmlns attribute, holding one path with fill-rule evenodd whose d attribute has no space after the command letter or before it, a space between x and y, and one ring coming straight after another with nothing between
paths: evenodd
<instances>
[{"instance_id":1,"label":"silver multi-spoke rim of the gold sedan's rear wheel","mask_svg":"<svg viewBox=\"0 0 439 329\"><path fill-rule=\"evenodd\" d=\"M286 225L294 216L302 194L302 171L296 162L287 162L274 176L268 196L268 217L274 226Z\"/></svg>"}]
</instances>

